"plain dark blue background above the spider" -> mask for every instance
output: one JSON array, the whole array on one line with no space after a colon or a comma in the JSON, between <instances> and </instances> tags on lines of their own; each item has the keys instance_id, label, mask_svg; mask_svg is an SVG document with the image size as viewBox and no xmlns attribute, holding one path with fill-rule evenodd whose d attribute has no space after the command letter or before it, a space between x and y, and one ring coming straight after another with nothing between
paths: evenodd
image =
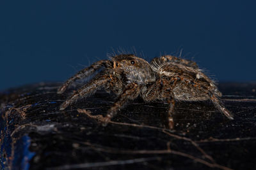
<instances>
[{"instance_id":1,"label":"plain dark blue background above the spider","mask_svg":"<svg viewBox=\"0 0 256 170\"><path fill-rule=\"evenodd\" d=\"M220 81L253 81L249 1L0 1L0 89L64 81L118 48L193 59Z\"/></svg>"}]
</instances>

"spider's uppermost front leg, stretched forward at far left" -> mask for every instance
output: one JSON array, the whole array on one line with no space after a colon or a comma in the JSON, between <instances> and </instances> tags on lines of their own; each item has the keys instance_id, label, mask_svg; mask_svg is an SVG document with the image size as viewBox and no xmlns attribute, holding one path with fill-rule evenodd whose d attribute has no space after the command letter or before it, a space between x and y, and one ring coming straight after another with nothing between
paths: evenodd
<instances>
[{"instance_id":1,"label":"spider's uppermost front leg, stretched forward at far left","mask_svg":"<svg viewBox=\"0 0 256 170\"><path fill-rule=\"evenodd\" d=\"M86 67L86 68L82 69L81 71L76 73L74 76L69 78L65 83L63 83L63 85L58 89L57 93L62 94L63 92L65 92L65 90L68 88L68 86L71 83L73 83L77 79L86 78L87 76L90 76L95 71L97 71L97 69L100 69L100 67L102 67L102 64L105 64L106 62L107 62L107 60L99 60L99 61L93 63L90 67Z\"/></svg>"}]
</instances>

